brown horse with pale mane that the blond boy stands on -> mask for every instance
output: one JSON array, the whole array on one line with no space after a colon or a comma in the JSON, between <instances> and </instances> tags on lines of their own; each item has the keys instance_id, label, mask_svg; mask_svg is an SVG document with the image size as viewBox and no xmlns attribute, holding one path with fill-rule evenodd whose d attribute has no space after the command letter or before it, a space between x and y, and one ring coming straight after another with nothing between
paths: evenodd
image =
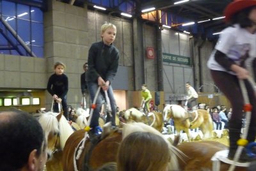
<instances>
[{"instance_id":1,"label":"brown horse with pale mane that the blond boy stands on","mask_svg":"<svg viewBox=\"0 0 256 171\"><path fill-rule=\"evenodd\" d=\"M64 147L63 170L97 170L97 168L102 167L105 163L115 162L118 147L122 141L122 135L127 135L136 131L144 131L155 133L163 137L159 131L143 123L127 123L125 124L123 131L122 129L113 131L109 129L109 126L111 126L111 124L105 124L102 135L96 138L88 137L84 130L74 132L68 138ZM129 129L129 133L125 132L125 128L128 126L130 128L132 127L132 129ZM79 154L79 149L81 149L83 145L83 141L81 141L83 138L86 141L84 142L83 151ZM168 143L171 151L169 169L179 170L177 156L182 156L182 152L177 150L177 148L170 144L168 140L166 140L166 143ZM148 150L150 151L150 149ZM77 157L77 154L79 154L79 158Z\"/></svg>"}]
</instances>

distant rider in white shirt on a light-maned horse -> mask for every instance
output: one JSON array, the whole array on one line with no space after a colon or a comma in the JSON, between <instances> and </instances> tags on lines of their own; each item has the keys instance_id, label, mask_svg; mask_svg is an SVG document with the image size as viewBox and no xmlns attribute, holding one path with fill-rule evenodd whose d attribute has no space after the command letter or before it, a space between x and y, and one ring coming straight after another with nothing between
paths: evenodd
<instances>
[{"instance_id":1,"label":"distant rider in white shirt on a light-maned horse","mask_svg":"<svg viewBox=\"0 0 256 171\"><path fill-rule=\"evenodd\" d=\"M196 93L195 89L191 86L190 82L186 82L186 89L188 93L188 109L192 109L197 105L197 98L198 94Z\"/></svg>"}]
</instances>

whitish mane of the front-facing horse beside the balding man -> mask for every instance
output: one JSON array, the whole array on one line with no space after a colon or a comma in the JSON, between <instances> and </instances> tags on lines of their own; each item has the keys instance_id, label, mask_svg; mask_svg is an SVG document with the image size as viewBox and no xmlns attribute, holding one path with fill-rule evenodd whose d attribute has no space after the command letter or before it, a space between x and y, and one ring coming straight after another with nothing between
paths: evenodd
<instances>
[{"instance_id":1,"label":"whitish mane of the front-facing horse beside the balding man","mask_svg":"<svg viewBox=\"0 0 256 171\"><path fill-rule=\"evenodd\" d=\"M61 115L60 121L58 122L57 115L58 113L46 112L39 117L38 121L45 132L46 140L50 132L60 133L60 145L61 149L63 149L68 137L74 131L63 115Z\"/></svg>"}]
</instances>

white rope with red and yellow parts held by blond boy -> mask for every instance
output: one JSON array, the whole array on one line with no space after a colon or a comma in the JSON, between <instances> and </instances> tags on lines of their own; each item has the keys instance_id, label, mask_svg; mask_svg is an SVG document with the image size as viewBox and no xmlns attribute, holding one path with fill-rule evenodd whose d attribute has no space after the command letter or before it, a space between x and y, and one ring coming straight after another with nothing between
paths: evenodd
<instances>
[{"instance_id":1,"label":"white rope with red and yellow parts held by blond boy","mask_svg":"<svg viewBox=\"0 0 256 171\"><path fill-rule=\"evenodd\" d=\"M81 156L81 154L82 154L82 152L83 152L83 149L84 149L84 144L85 144L86 140L87 140L88 137L89 137L88 131L90 131L90 123L91 123L91 121L92 121L93 110L97 107L96 101L97 101L97 98L98 98L98 96L99 96L99 93L100 93L100 86L98 87L97 92L96 92L96 94L95 94L95 97L94 97L94 99L93 99L92 108L91 108L91 110L90 110L90 117L89 117L89 119L88 119L88 126L86 126L86 128L84 128L84 130L85 130L84 138L81 140L81 142L79 142L79 144L77 145L77 147L79 147L80 144L82 144L82 145L81 145L81 147L79 147L79 148L76 147L75 152L74 152L73 163L74 163L74 170L75 170L75 171L79 171L79 170L77 169L76 160L79 160L79 158L80 158L80 156ZM78 149L78 151L77 151L77 149ZM77 152L77 155L76 155L76 152Z\"/></svg>"}]
</instances>

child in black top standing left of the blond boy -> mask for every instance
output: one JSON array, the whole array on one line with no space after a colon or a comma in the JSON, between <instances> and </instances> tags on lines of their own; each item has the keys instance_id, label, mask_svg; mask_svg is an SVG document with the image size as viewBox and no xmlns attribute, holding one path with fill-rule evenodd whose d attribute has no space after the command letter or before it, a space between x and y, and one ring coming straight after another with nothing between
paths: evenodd
<instances>
[{"instance_id":1,"label":"child in black top standing left of the blond boy","mask_svg":"<svg viewBox=\"0 0 256 171\"><path fill-rule=\"evenodd\" d=\"M47 91L52 95L54 100L53 112L59 112L58 103L63 107L63 114L68 120L67 93L68 77L64 74L66 66L57 62L54 64L54 74L51 75L47 84Z\"/></svg>"}]
</instances>

